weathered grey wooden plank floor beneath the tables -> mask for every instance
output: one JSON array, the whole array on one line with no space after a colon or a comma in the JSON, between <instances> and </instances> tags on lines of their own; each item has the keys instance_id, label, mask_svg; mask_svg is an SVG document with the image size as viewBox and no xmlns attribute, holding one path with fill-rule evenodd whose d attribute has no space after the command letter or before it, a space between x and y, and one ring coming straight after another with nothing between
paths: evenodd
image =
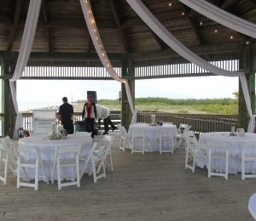
<instances>
[{"instance_id":1,"label":"weathered grey wooden plank floor beneath the tables","mask_svg":"<svg viewBox=\"0 0 256 221\"><path fill-rule=\"evenodd\" d=\"M207 171L184 169L184 150L172 154L131 155L113 148L114 173L81 187L39 190L0 183L0 220L253 220L247 202L256 179L207 178ZM10 174L10 173L9 173Z\"/></svg>"}]
</instances>

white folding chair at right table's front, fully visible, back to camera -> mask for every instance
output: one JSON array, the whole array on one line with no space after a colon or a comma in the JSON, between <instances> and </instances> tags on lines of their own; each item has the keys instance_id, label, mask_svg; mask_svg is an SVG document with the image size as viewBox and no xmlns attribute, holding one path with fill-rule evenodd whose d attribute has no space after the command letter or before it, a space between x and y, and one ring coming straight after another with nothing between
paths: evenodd
<instances>
[{"instance_id":1,"label":"white folding chair at right table's front, fully visible, back to camera","mask_svg":"<svg viewBox=\"0 0 256 221\"><path fill-rule=\"evenodd\" d=\"M208 152L208 178L211 176L220 176L228 179L230 143L225 141L207 141ZM212 172L212 159L225 161L225 173ZM213 168L214 169L214 168Z\"/></svg>"}]
</instances>

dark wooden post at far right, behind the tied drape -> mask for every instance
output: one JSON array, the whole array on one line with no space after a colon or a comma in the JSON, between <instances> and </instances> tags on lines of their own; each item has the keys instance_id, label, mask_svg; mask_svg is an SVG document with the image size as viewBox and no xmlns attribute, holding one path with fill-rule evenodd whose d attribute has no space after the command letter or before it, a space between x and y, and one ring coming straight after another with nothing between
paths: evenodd
<instances>
[{"instance_id":1,"label":"dark wooden post at far right, behind the tied drape","mask_svg":"<svg viewBox=\"0 0 256 221\"><path fill-rule=\"evenodd\" d=\"M253 59L255 59L255 51L250 45L241 48L239 59L240 71L245 72L247 78L247 85L251 99L252 111L255 112L255 67L253 67ZM244 96L242 94L241 82L239 82L239 127L247 130L249 123L249 115Z\"/></svg>"}]
</instances>

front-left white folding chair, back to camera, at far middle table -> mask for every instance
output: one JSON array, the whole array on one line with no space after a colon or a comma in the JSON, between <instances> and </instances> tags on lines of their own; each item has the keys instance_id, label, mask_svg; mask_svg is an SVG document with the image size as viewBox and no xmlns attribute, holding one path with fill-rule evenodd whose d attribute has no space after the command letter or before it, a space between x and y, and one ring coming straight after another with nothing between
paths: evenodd
<instances>
[{"instance_id":1,"label":"front-left white folding chair, back to camera, at far middle table","mask_svg":"<svg viewBox=\"0 0 256 221\"><path fill-rule=\"evenodd\" d=\"M137 143L142 143L142 150L139 148ZM142 153L145 152L145 131L143 128L133 129L131 132L131 154L133 153Z\"/></svg>"}]
</instances>

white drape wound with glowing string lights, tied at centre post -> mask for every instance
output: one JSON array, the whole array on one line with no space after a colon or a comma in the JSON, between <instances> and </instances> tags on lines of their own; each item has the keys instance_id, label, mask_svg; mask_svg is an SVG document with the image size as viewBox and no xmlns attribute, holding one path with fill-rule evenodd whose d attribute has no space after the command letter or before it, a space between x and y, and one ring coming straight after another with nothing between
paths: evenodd
<instances>
[{"instance_id":1,"label":"white drape wound with glowing string lights, tied at centre post","mask_svg":"<svg viewBox=\"0 0 256 221\"><path fill-rule=\"evenodd\" d=\"M99 35L98 29L96 27L96 22L92 13L92 10L90 8L90 2L88 0L80 0L81 7L84 13L84 19L86 21L86 25L88 27L88 30L90 32L91 40L94 44L94 47L96 48L96 53L98 54L99 58L102 61L102 65L107 69L109 75L113 77L114 80L118 82L123 82L125 84L125 91L127 94L128 102L131 108L132 115L134 115L134 108L133 103L131 99L131 91L128 82L119 77L116 71L113 70L113 65L111 64L110 60L108 59L108 55L105 51L105 48L102 44L101 37Z\"/></svg>"}]
</instances>

